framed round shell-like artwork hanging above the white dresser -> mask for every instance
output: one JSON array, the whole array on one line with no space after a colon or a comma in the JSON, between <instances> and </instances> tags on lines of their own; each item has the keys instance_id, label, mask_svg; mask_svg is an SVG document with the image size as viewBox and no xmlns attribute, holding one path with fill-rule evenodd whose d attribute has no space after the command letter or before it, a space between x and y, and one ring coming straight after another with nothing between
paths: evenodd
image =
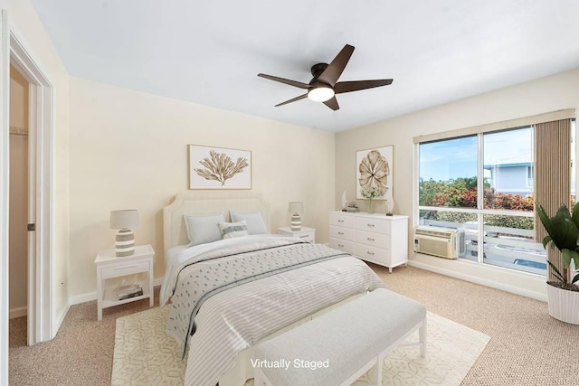
<instances>
[{"instance_id":1,"label":"framed round shell-like artwork hanging above the white dresser","mask_svg":"<svg viewBox=\"0 0 579 386\"><path fill-rule=\"evenodd\" d=\"M384 194L375 200L393 202L394 146L356 152L356 199L364 199L362 188L379 187Z\"/></svg>"}]
</instances>

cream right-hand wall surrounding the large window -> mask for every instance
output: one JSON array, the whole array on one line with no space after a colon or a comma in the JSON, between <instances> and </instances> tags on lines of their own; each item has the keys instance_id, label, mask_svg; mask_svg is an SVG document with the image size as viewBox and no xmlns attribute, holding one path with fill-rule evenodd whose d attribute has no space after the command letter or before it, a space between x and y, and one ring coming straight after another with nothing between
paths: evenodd
<instances>
[{"instance_id":1,"label":"cream right-hand wall surrounding the large window","mask_svg":"<svg viewBox=\"0 0 579 386\"><path fill-rule=\"evenodd\" d=\"M336 192L339 205L346 190L349 200L355 197L356 150L372 146L394 145L394 212L411 216L413 224L413 137L462 127L472 127L511 118L521 118L563 108L579 108L579 70L529 81L517 86L470 99L429 108L366 127L348 130L336 136ZM365 202L360 202L365 208ZM384 212L380 203L376 212ZM412 234L412 233L409 233ZM408 240L412 249L412 240ZM515 290L528 296L545 298L543 278L512 274L489 267L484 269L468 262L449 261L417 255L413 261L460 278Z\"/></svg>"}]
</instances>

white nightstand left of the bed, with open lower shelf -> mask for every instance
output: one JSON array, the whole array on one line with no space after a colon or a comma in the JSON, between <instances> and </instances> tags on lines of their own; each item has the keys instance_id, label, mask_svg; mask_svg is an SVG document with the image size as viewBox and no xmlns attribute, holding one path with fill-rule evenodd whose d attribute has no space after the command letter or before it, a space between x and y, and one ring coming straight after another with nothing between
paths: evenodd
<instances>
[{"instance_id":1,"label":"white nightstand left of the bed, with open lower shelf","mask_svg":"<svg viewBox=\"0 0 579 386\"><path fill-rule=\"evenodd\" d=\"M153 306L153 258L155 250L150 245L135 247L135 253L118 258L115 249L101 250L94 263L97 265L97 305L98 319L102 320L102 309L111 306L124 305L128 302L149 298L149 306ZM143 295L119 299L115 288L123 277L137 276L134 281L143 288ZM147 278L143 278L147 276Z\"/></svg>"}]
</instances>

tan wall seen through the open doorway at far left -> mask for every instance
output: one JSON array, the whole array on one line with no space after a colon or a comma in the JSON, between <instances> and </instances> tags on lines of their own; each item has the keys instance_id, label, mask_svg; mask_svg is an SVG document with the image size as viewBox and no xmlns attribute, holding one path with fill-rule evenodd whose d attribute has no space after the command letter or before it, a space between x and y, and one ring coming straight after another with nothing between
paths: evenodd
<instances>
[{"instance_id":1,"label":"tan wall seen through the open doorway at far left","mask_svg":"<svg viewBox=\"0 0 579 386\"><path fill-rule=\"evenodd\" d=\"M28 81L10 66L10 249L11 315L22 316L28 303Z\"/></svg>"}]
</instances>

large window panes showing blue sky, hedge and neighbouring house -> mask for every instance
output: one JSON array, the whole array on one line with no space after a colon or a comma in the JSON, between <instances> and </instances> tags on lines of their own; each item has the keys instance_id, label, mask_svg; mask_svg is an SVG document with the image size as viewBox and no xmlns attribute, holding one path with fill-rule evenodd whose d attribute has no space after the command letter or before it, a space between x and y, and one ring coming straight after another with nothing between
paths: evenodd
<instances>
[{"instance_id":1,"label":"large window panes showing blue sky, hedge and neighbouring house","mask_svg":"<svg viewBox=\"0 0 579 386\"><path fill-rule=\"evenodd\" d=\"M533 127L419 143L419 224L456 230L459 259L545 276L533 145Z\"/></svg>"}]
</instances>

